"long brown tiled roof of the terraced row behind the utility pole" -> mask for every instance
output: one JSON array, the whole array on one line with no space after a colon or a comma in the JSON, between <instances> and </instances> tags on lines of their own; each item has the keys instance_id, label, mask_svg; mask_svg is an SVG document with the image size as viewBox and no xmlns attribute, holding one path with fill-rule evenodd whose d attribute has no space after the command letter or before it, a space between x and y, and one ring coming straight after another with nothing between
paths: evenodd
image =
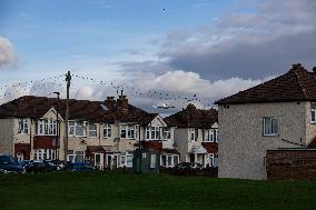
<instances>
[{"instance_id":1,"label":"long brown tiled roof of the terraced row behind the utility pole","mask_svg":"<svg viewBox=\"0 0 316 210\"><path fill-rule=\"evenodd\" d=\"M24 96L0 106L0 118L42 118L51 108L65 119L66 99ZM127 102L127 109L119 106L106 106L103 101L69 100L69 120L87 120L93 122L134 122L148 124L158 113L148 113Z\"/></svg>"}]
</instances>

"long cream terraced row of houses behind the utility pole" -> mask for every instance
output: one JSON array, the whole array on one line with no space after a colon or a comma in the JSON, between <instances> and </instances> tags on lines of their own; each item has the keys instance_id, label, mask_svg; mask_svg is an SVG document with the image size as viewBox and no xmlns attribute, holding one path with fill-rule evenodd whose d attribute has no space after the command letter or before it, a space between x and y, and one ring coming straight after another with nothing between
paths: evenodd
<instances>
[{"instance_id":1,"label":"long cream terraced row of houses behind the utility pole","mask_svg":"<svg viewBox=\"0 0 316 210\"><path fill-rule=\"evenodd\" d=\"M26 96L0 106L0 153L20 160L62 160L65 113L66 100L46 97ZM129 104L126 96L106 101L71 99L68 136L67 160L90 161L100 168L131 168L132 152L142 141L164 140L164 148L170 149L174 144L174 128L167 128L159 114Z\"/></svg>"}]
</instances>

